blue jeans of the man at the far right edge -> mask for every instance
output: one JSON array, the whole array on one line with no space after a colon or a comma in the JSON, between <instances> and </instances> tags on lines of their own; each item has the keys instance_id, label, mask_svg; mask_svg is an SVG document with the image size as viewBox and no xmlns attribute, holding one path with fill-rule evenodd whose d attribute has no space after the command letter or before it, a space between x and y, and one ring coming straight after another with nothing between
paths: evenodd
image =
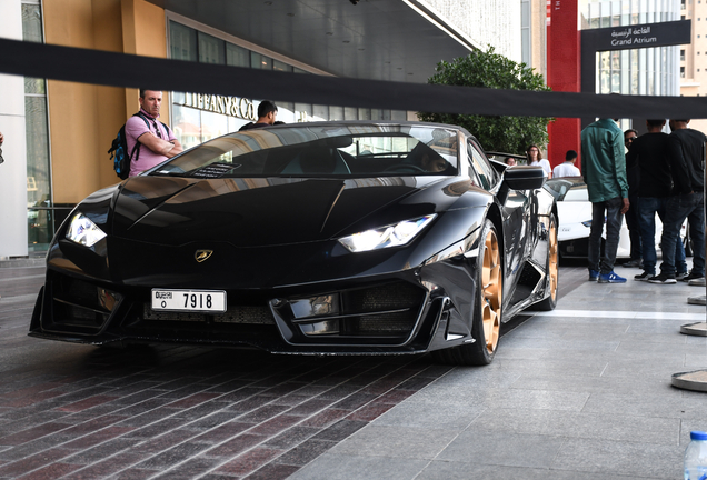
<instances>
[{"instance_id":1,"label":"blue jeans of the man at the far right edge","mask_svg":"<svg viewBox=\"0 0 707 480\"><path fill-rule=\"evenodd\" d=\"M690 240L693 240L693 273L705 274L705 194L694 192L688 194L669 197L666 202L665 220L663 221L663 263L660 271L675 274L676 243L680 241L680 228L685 219L690 224ZM685 253L685 252L683 252Z\"/></svg>"}]
</instances>

